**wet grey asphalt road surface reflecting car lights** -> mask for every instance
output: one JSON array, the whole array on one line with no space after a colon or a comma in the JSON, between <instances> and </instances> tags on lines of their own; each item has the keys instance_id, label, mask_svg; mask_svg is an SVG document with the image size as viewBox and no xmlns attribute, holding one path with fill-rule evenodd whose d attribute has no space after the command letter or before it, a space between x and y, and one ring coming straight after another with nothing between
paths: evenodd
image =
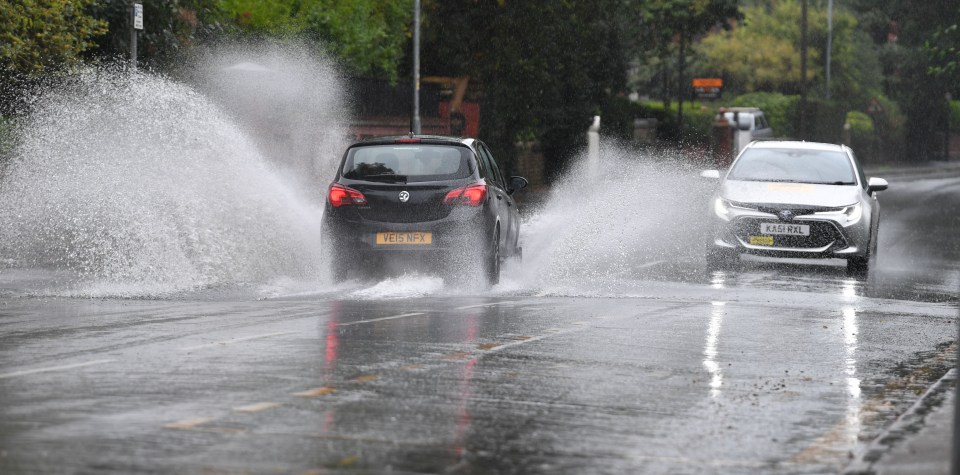
<instances>
[{"instance_id":1,"label":"wet grey asphalt road surface reflecting car lights","mask_svg":"<svg viewBox=\"0 0 960 475\"><path fill-rule=\"evenodd\" d=\"M7 271L0 473L837 472L955 355L960 179L881 199L867 279L690 260L597 296L91 300Z\"/></svg>"}]
</instances>

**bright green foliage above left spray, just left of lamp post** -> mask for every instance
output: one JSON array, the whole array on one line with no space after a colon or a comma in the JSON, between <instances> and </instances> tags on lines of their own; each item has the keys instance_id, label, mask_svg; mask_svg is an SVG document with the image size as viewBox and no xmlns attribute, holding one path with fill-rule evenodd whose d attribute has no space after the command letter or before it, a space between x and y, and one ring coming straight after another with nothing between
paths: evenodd
<instances>
[{"instance_id":1,"label":"bright green foliage above left spray, just left of lamp post","mask_svg":"<svg viewBox=\"0 0 960 475\"><path fill-rule=\"evenodd\" d=\"M413 17L410 0L223 0L241 32L319 41L352 74L396 81Z\"/></svg>"}]
</instances>

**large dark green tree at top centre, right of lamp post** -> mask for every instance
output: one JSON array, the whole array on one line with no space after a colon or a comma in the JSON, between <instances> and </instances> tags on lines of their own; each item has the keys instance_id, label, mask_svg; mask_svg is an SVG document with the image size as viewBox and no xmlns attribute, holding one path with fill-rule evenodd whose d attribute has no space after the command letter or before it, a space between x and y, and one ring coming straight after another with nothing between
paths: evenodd
<instances>
[{"instance_id":1,"label":"large dark green tree at top centre, right of lamp post","mask_svg":"<svg viewBox=\"0 0 960 475\"><path fill-rule=\"evenodd\" d=\"M537 139L556 172L605 98L625 90L624 5L428 1L423 72L482 84L481 135L497 155L509 162L517 141Z\"/></svg>"}]
</instances>

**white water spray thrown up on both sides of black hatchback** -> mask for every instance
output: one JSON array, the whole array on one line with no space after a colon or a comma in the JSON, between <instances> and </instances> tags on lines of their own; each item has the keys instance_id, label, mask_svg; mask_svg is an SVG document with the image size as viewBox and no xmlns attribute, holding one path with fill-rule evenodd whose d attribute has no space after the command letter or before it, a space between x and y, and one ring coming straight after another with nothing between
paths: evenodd
<instances>
[{"instance_id":1,"label":"white water spray thrown up on both sides of black hatchback","mask_svg":"<svg viewBox=\"0 0 960 475\"><path fill-rule=\"evenodd\" d=\"M180 80L90 69L45 91L0 181L0 264L65 271L73 285L54 292L82 296L482 291L431 275L323 281L323 190L348 114L318 57L227 48L197 55ZM493 292L610 295L651 268L690 272L709 184L684 163L603 143L596 176L576 166L527 210L522 266Z\"/></svg>"}]
</instances>

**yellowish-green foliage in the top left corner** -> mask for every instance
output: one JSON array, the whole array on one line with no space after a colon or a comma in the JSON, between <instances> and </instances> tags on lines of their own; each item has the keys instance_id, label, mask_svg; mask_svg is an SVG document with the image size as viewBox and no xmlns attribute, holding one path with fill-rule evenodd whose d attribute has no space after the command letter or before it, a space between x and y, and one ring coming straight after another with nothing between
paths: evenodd
<instances>
[{"instance_id":1,"label":"yellowish-green foliage in the top left corner","mask_svg":"<svg viewBox=\"0 0 960 475\"><path fill-rule=\"evenodd\" d=\"M0 67L36 74L70 65L106 32L106 23L87 13L93 0L5 0L0 2Z\"/></svg>"}]
</instances>

